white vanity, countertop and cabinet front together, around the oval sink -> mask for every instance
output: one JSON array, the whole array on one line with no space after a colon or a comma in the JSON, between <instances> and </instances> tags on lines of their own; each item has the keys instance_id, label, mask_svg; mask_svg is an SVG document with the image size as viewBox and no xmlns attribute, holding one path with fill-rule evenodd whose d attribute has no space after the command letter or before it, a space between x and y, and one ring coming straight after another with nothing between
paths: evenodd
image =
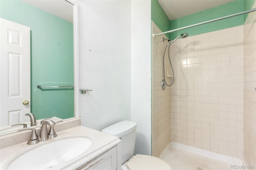
<instances>
[{"instance_id":1,"label":"white vanity, countertop and cabinet front together, around the oval sink","mask_svg":"<svg viewBox=\"0 0 256 170\"><path fill-rule=\"evenodd\" d=\"M66 121L64 124L66 125L68 123L69 122ZM58 125L60 126L62 123L57 124L56 127ZM58 127L56 129L58 129ZM38 130L40 130L39 127ZM0 170L7 170L14 160L20 158L27 152L40 148L43 145L50 147L52 146L50 145L51 143L69 138L88 138L92 141L92 145L86 151L78 154L74 158L66 160L66 158L63 157L62 161L59 161L59 164L56 164L54 160L52 160L49 167L52 166L54 170L122 170L121 140L117 136L79 125L58 131L58 136L56 138L49 139L45 142L39 142L35 145L28 145L27 140L29 139L30 133L18 132L0 137ZM25 134L27 136L26 138L24 138ZM14 138L24 139L25 141L7 146L7 144L15 141L13 140ZM40 155L42 156L42 154ZM59 157L60 156L56 156L56 158ZM36 158L36 160L39 160L38 164L40 164L38 166L36 165L36 167L40 169L40 167L43 167L45 164L42 163L43 159L38 159L38 156ZM53 159L54 158L55 157L53 157ZM23 164L28 166L28 169L31 166L29 161L30 160L23 161Z\"/></svg>"}]
</instances>

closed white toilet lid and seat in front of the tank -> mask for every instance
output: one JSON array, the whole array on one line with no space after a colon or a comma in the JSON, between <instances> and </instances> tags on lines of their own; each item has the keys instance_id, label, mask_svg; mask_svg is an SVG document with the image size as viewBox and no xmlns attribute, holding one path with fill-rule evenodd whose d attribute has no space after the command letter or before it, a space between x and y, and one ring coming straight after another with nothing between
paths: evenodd
<instances>
[{"instance_id":1,"label":"closed white toilet lid and seat in front of the tank","mask_svg":"<svg viewBox=\"0 0 256 170\"><path fill-rule=\"evenodd\" d=\"M162 159L142 154L136 154L127 166L130 170L172 170Z\"/></svg>"}]
</instances>

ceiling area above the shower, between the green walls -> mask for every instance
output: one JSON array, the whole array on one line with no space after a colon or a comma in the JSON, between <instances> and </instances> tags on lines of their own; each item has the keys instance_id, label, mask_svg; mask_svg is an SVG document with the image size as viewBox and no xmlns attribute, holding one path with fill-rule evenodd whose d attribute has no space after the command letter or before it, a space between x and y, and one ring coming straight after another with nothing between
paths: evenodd
<instances>
[{"instance_id":1,"label":"ceiling area above the shower, between the green walls","mask_svg":"<svg viewBox=\"0 0 256 170\"><path fill-rule=\"evenodd\" d=\"M194 14L235 0L158 0L169 20Z\"/></svg>"}]
</instances>

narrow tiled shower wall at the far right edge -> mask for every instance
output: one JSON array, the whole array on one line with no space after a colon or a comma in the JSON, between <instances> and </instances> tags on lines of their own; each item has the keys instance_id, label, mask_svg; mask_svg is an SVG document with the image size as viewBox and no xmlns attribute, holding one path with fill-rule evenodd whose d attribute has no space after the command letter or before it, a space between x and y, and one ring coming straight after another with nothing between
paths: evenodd
<instances>
[{"instance_id":1,"label":"narrow tiled shower wall at the far right edge","mask_svg":"<svg viewBox=\"0 0 256 170\"><path fill-rule=\"evenodd\" d=\"M256 2L252 8L256 8ZM256 167L256 12L244 24L244 160Z\"/></svg>"}]
</instances>

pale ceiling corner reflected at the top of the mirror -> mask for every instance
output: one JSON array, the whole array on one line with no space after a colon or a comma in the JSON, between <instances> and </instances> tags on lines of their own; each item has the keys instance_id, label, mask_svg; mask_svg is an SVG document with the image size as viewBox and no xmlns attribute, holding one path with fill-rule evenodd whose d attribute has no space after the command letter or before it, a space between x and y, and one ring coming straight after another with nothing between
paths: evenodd
<instances>
[{"instance_id":1,"label":"pale ceiling corner reflected at the top of the mirror","mask_svg":"<svg viewBox=\"0 0 256 170\"><path fill-rule=\"evenodd\" d=\"M36 8L73 23L73 4L66 0L22 0Z\"/></svg>"}]
</instances>

